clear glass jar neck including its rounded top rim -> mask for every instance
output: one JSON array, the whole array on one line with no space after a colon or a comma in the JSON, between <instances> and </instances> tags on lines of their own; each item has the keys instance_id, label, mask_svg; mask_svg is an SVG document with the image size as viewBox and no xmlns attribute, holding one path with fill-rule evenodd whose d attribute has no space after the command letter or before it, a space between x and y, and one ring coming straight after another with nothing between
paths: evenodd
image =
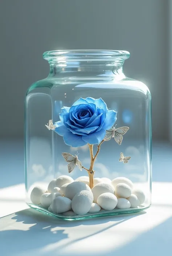
<instances>
[{"instance_id":1,"label":"clear glass jar neck including its rounded top rim","mask_svg":"<svg viewBox=\"0 0 172 256\"><path fill-rule=\"evenodd\" d=\"M121 50L55 50L45 52L50 64L49 77L115 77L124 78L124 60L130 53Z\"/></svg>"}]
</instances>

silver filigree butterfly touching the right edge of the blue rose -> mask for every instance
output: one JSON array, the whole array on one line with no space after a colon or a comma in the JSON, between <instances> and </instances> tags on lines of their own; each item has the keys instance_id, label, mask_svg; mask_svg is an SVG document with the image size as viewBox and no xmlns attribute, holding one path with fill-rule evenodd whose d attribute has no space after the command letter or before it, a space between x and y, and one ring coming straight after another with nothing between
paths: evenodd
<instances>
[{"instance_id":1,"label":"silver filigree butterfly touching the right edge of the blue rose","mask_svg":"<svg viewBox=\"0 0 172 256\"><path fill-rule=\"evenodd\" d=\"M126 134L128 129L129 129L129 127L127 127L127 126L123 126L123 127L119 127L119 128L115 128L114 126L112 126L111 129L106 131L106 135L105 135L104 140L109 141L111 138L114 138L115 141L119 145L121 145L122 140L123 140L122 135Z\"/></svg>"}]
</instances>

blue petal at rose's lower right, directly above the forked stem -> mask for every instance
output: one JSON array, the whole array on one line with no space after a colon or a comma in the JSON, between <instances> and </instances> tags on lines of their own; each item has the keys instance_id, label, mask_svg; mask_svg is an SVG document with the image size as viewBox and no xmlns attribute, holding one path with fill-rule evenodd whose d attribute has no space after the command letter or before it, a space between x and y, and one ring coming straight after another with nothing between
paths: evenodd
<instances>
[{"instance_id":1,"label":"blue petal at rose's lower right, directly above the forked stem","mask_svg":"<svg viewBox=\"0 0 172 256\"><path fill-rule=\"evenodd\" d=\"M97 131L95 133L91 133L87 136L82 136L83 141L89 143L89 144L99 144L106 135L106 130L101 129L100 131Z\"/></svg>"}]
</instances>

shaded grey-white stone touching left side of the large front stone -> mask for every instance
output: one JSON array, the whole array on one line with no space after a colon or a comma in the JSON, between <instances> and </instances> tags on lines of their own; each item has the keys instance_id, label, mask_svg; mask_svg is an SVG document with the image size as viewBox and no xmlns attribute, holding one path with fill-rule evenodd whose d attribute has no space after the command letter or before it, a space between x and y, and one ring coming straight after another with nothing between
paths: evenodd
<instances>
[{"instance_id":1,"label":"shaded grey-white stone touching left side of the large front stone","mask_svg":"<svg viewBox=\"0 0 172 256\"><path fill-rule=\"evenodd\" d=\"M71 210L71 200L64 196L54 198L51 208L54 213L62 213Z\"/></svg>"}]
</instances>

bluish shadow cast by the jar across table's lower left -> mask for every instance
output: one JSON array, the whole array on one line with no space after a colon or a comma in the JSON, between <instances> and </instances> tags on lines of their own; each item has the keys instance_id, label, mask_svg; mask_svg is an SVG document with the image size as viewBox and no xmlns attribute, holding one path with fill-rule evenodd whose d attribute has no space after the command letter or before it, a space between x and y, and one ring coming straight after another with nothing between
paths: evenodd
<instances>
[{"instance_id":1,"label":"bluish shadow cast by the jar across table's lower left","mask_svg":"<svg viewBox=\"0 0 172 256\"><path fill-rule=\"evenodd\" d=\"M52 216L42 214L33 209L23 210L0 219L0 241L3 241L3 244L1 244L0 247L2 253L1 255L17 255L22 252L32 251L33 249L41 249L46 245L51 245L53 243L57 244L57 250L59 251L65 246L86 239L87 237L94 236L111 227L114 227L115 225L118 225L119 223L125 222L144 213L145 212L140 212L138 214L70 222L54 219ZM16 226L17 229L14 229L14 220L19 222L19 224ZM66 228L71 228L72 230L73 227L80 225L97 225L108 222L110 223L108 227L102 228L97 232L92 232L90 235L66 242L63 245L58 246L59 241L68 238L67 230L65 230ZM3 230L3 224L4 229L6 230ZM56 231L53 231L53 228L56 229ZM57 230L57 228L59 229ZM45 252L42 254L46 255Z\"/></svg>"}]
</instances>

